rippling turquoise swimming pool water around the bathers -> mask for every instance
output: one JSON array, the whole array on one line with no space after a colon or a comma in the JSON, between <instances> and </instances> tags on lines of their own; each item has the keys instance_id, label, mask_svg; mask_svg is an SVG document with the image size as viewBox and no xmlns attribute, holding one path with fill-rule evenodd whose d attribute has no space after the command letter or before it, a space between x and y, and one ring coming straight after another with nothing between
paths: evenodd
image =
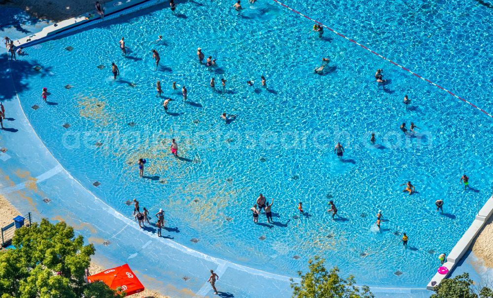
<instances>
[{"instance_id":1,"label":"rippling turquoise swimming pool water around the bathers","mask_svg":"<svg viewBox=\"0 0 493 298\"><path fill-rule=\"evenodd\" d=\"M190 248L285 275L320 255L361 284L423 287L438 255L452 249L491 194L491 119L327 30L318 38L313 23L279 4L244 3L241 13L232 4L186 1L176 14L156 6L28 48L11 66L36 132L118 212L132 218L126 202L134 198L151 214L163 208L163 235ZM286 4L493 110L484 46L492 42L492 9L474 1ZM163 42L155 41L159 34ZM218 66L199 64L197 47ZM151 49L161 56L157 70ZM322 57L331 62L315 74ZM385 88L374 81L377 68L389 79ZM156 98L156 80L163 98ZM173 81L187 86L186 101ZM224 111L238 118L225 124ZM419 133L404 135L403 122ZM171 138L181 159L170 153ZM333 153L337 140L346 149L342 160ZM139 158L147 160L147 178L139 177ZM463 191L463 173L472 190ZM408 180L417 189L412 196L399 186ZM252 223L248 209L259 193L274 199L273 225L263 214L261 225ZM329 199L339 209L334 221ZM444 214L435 211L436 199L445 200ZM380 232L378 209L386 219Z\"/></svg>"}]
</instances>

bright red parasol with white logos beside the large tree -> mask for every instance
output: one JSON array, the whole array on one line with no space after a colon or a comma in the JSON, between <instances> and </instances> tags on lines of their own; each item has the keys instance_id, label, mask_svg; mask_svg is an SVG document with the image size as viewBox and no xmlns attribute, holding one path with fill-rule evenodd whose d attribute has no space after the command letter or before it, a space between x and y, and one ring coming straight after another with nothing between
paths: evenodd
<instances>
[{"instance_id":1,"label":"bright red parasol with white logos beside the large tree","mask_svg":"<svg viewBox=\"0 0 493 298\"><path fill-rule=\"evenodd\" d=\"M144 290L144 286L142 286L134 272L130 270L128 264L107 269L87 277L87 281L89 282L95 282L97 280L101 280L113 290L121 287L122 292L125 292L127 296Z\"/></svg>"}]
</instances>

